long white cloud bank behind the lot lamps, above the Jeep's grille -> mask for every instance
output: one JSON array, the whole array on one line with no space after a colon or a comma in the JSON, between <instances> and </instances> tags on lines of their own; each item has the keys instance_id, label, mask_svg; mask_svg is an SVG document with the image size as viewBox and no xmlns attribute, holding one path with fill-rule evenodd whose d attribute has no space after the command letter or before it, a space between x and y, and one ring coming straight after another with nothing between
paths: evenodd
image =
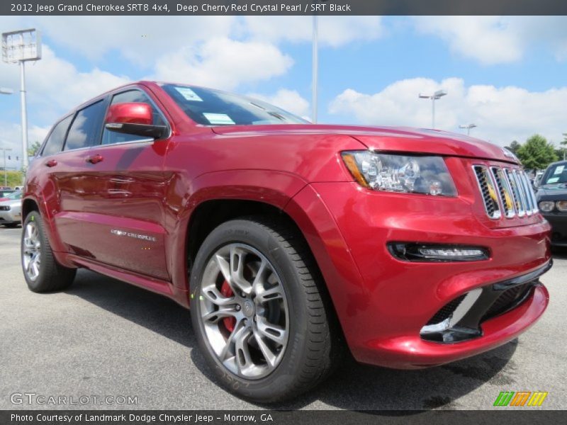
<instances>
[{"instance_id":1,"label":"long white cloud bank behind the lot lamps, above the Jeep's grille","mask_svg":"<svg viewBox=\"0 0 567 425\"><path fill-rule=\"evenodd\" d=\"M436 127L462 132L459 125L475 123L475 137L507 145L524 141L534 133L558 142L567 130L567 87L527 91L520 87L466 86L462 79L443 81L416 78L396 81L376 94L347 89L330 104L330 113L354 117L370 125L431 127L431 101L420 92L445 89L448 95L436 103Z\"/></svg>"}]
</instances>

